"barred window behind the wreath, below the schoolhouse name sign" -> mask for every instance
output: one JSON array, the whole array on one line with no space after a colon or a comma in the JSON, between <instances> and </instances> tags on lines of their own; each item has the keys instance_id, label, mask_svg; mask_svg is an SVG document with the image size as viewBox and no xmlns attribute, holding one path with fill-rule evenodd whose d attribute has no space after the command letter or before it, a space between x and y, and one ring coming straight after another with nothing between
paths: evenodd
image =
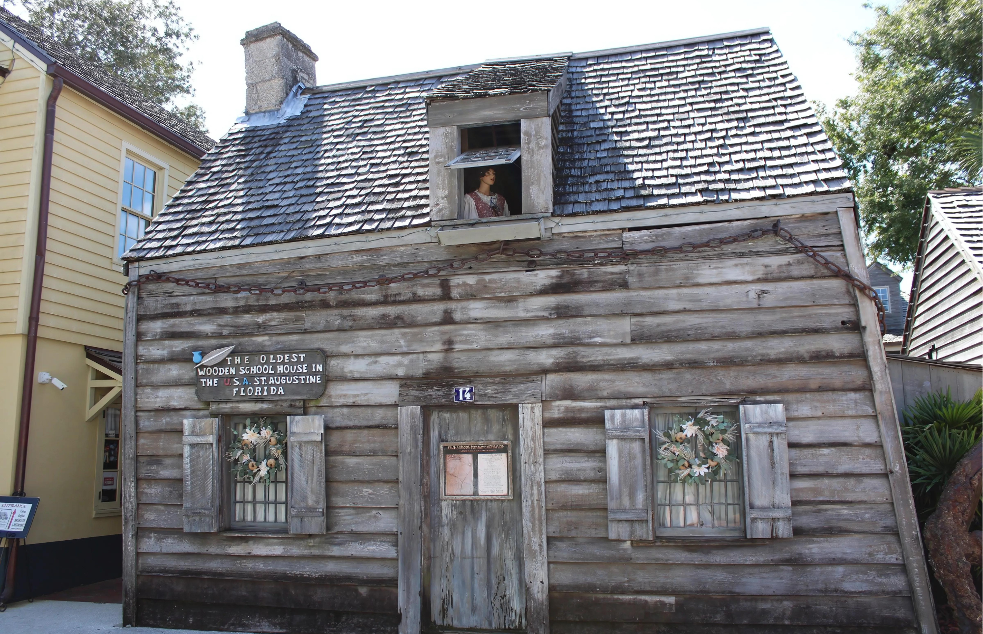
<instances>
[{"instance_id":1,"label":"barred window behind the wreath, below the schoolhouse name sign","mask_svg":"<svg viewBox=\"0 0 983 634\"><path fill-rule=\"evenodd\" d=\"M257 416L251 417L232 417L229 420L229 427L242 435L246 428L246 421L249 420L251 426L272 427L273 429L286 432L287 419L285 416ZM289 449L288 449L289 451ZM266 459L268 446L260 449L257 455L260 459ZM289 456L287 460L289 461ZM258 460L259 461L259 460ZM226 465L226 473L229 474L231 465L223 461ZM289 462L288 462L289 463ZM262 531L285 531L287 530L287 473L280 471L273 475L270 483L264 484L261 480L256 484L251 482L239 482L229 475L229 528L248 529Z\"/></svg>"}]
</instances>

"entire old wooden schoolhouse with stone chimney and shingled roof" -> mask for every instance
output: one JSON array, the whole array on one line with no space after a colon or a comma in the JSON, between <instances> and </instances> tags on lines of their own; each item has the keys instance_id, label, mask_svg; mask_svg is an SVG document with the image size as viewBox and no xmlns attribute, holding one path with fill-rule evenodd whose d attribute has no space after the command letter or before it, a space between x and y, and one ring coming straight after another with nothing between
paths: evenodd
<instances>
[{"instance_id":1,"label":"entire old wooden schoolhouse with stone chimney and shingled roof","mask_svg":"<svg viewBox=\"0 0 983 634\"><path fill-rule=\"evenodd\" d=\"M126 254L126 623L937 631L851 185L767 28L320 86L243 45Z\"/></svg>"}]
</instances>

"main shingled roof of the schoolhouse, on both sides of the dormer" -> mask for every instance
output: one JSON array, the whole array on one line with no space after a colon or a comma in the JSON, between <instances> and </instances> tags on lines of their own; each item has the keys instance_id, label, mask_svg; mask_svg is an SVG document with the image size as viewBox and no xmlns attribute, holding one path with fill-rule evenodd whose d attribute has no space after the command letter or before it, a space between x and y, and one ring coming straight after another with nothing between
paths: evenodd
<instances>
[{"instance_id":1,"label":"main shingled roof of the schoolhouse, on both sides of the dormer","mask_svg":"<svg viewBox=\"0 0 983 634\"><path fill-rule=\"evenodd\" d=\"M234 126L127 257L428 224L425 100L485 66L321 86ZM554 215L850 188L768 29L572 55L557 140Z\"/></svg>"}]
</instances>

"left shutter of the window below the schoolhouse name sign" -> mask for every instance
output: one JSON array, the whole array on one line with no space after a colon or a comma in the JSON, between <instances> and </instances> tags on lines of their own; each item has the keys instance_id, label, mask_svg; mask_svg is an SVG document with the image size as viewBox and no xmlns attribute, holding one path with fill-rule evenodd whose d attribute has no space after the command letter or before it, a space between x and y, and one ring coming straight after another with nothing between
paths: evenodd
<instances>
[{"instance_id":1,"label":"left shutter of the window below the schoolhouse name sign","mask_svg":"<svg viewBox=\"0 0 983 634\"><path fill-rule=\"evenodd\" d=\"M181 442L184 447L185 533L215 533L221 499L218 419L185 419Z\"/></svg>"}]
</instances>

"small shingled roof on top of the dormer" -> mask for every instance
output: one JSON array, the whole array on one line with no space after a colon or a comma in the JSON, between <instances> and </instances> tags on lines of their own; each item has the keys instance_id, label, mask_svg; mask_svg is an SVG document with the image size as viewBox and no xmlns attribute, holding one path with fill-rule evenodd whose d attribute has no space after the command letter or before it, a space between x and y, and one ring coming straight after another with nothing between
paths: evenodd
<instances>
[{"instance_id":1,"label":"small shingled roof on top of the dormer","mask_svg":"<svg viewBox=\"0 0 983 634\"><path fill-rule=\"evenodd\" d=\"M486 62L466 75L444 81L427 98L475 99L546 92L563 79L570 55L567 53L542 59Z\"/></svg>"}]
</instances>

